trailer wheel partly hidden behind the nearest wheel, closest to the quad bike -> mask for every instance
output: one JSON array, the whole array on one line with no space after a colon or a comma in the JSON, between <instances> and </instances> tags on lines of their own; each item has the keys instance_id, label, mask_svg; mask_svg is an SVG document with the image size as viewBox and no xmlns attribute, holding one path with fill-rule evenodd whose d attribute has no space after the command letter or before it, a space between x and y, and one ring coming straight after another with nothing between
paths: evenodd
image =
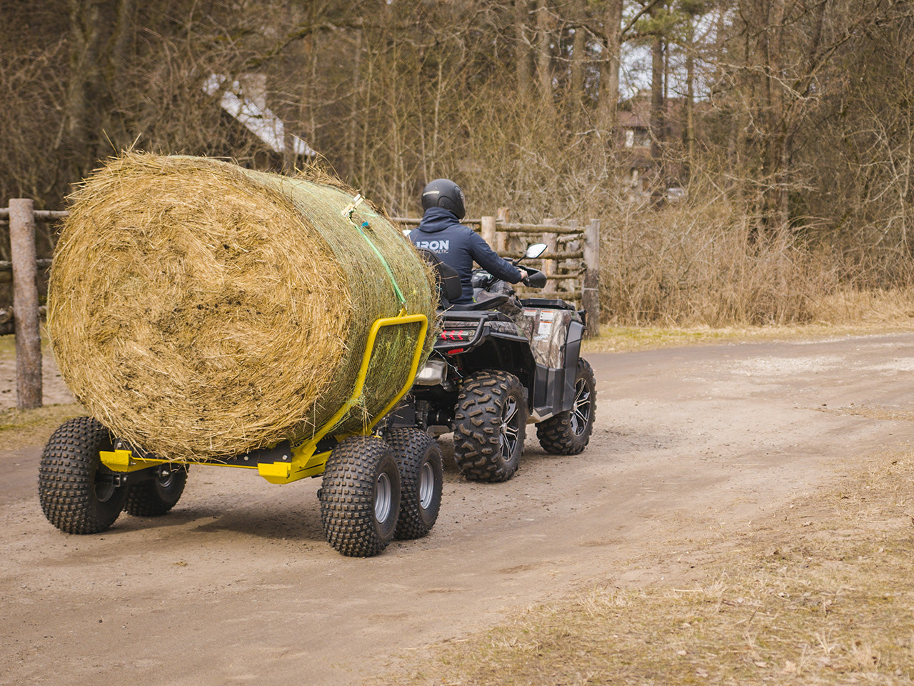
<instances>
[{"instance_id":1,"label":"trailer wheel partly hidden behind the nearest wheel, closest to the quad bike","mask_svg":"<svg viewBox=\"0 0 914 686\"><path fill-rule=\"evenodd\" d=\"M441 448L420 429L394 429L387 440L400 474L400 513L394 538L420 539L431 531L441 509Z\"/></svg>"}]
</instances>

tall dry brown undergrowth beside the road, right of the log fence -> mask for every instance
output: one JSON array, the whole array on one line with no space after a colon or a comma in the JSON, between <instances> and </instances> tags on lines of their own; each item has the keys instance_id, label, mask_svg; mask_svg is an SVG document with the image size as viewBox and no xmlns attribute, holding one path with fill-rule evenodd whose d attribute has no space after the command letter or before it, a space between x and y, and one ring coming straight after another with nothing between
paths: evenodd
<instances>
[{"instance_id":1,"label":"tall dry brown undergrowth beside the road, right of the log fence","mask_svg":"<svg viewBox=\"0 0 914 686\"><path fill-rule=\"evenodd\" d=\"M754 233L745 209L717 198L620 211L604 231L604 321L616 326L887 324L914 316L903 252L861 253Z\"/></svg>"}]
</instances>

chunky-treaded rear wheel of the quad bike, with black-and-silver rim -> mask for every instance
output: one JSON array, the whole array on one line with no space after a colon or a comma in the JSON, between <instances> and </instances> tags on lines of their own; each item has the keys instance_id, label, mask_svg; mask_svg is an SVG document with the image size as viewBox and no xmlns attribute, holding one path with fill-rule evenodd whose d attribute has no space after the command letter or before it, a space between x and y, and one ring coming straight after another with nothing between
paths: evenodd
<instances>
[{"instance_id":1,"label":"chunky-treaded rear wheel of the quad bike, with black-and-silver rim","mask_svg":"<svg viewBox=\"0 0 914 686\"><path fill-rule=\"evenodd\" d=\"M463 381L454 412L454 457L471 481L514 476L526 432L524 387L506 371L477 371Z\"/></svg>"}]
</instances>

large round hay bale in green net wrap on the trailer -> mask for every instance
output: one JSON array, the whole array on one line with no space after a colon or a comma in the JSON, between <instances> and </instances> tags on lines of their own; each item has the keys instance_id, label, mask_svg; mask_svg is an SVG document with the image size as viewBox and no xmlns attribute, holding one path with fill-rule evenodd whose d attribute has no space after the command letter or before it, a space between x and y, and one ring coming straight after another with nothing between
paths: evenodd
<instances>
[{"instance_id":1,"label":"large round hay bale in green net wrap on the trailer","mask_svg":"<svg viewBox=\"0 0 914 686\"><path fill-rule=\"evenodd\" d=\"M71 197L51 268L48 333L70 391L169 459L311 437L352 393L372 323L400 311L385 262L409 313L434 317L428 268L367 203L347 220L353 196L209 158L110 161ZM335 433L399 391L418 329L382 329Z\"/></svg>"}]
</instances>

